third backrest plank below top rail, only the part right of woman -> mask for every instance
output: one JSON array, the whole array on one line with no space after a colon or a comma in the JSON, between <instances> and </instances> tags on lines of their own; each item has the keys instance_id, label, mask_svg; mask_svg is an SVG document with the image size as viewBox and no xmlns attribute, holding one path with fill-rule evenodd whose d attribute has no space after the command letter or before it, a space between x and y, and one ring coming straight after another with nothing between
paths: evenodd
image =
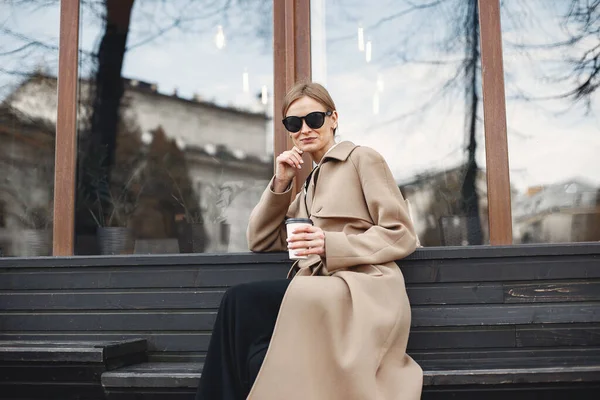
<instances>
[{"instance_id":1,"label":"third backrest plank below top rail, only the part right of woman","mask_svg":"<svg viewBox=\"0 0 600 400\"><path fill-rule=\"evenodd\" d=\"M598 303L417 306L412 326L522 325L600 322Z\"/></svg>"}]
</instances>

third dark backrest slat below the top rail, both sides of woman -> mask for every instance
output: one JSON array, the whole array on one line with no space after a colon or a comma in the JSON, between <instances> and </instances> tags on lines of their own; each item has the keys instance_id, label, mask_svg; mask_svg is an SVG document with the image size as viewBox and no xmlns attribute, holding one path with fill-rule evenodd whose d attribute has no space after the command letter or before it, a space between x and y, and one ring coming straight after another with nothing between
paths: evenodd
<instances>
[{"instance_id":1,"label":"third dark backrest slat below the top rail, both sides of woman","mask_svg":"<svg viewBox=\"0 0 600 400\"><path fill-rule=\"evenodd\" d=\"M598 303L416 306L413 327L600 322ZM207 331L213 311L0 313L4 331Z\"/></svg>"}]
</instances>

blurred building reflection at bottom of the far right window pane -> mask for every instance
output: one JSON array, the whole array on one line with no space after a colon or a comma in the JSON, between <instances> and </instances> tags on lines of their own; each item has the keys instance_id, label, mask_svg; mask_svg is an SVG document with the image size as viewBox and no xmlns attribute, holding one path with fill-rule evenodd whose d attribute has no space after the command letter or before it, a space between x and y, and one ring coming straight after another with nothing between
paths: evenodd
<instances>
[{"instance_id":1,"label":"blurred building reflection at bottom of the far right window pane","mask_svg":"<svg viewBox=\"0 0 600 400\"><path fill-rule=\"evenodd\" d=\"M600 240L600 188L579 180L513 196L516 243Z\"/></svg>"}]
</instances>

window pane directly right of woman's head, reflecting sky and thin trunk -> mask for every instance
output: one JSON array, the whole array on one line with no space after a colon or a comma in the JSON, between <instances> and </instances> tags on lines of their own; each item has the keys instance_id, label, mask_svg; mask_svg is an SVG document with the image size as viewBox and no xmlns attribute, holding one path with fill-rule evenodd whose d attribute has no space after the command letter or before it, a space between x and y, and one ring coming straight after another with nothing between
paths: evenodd
<instances>
[{"instance_id":1,"label":"window pane directly right of woman's head, reflecting sky and thin trunk","mask_svg":"<svg viewBox=\"0 0 600 400\"><path fill-rule=\"evenodd\" d=\"M311 2L340 140L373 147L424 246L489 242L476 0Z\"/></svg>"}]
</instances>

